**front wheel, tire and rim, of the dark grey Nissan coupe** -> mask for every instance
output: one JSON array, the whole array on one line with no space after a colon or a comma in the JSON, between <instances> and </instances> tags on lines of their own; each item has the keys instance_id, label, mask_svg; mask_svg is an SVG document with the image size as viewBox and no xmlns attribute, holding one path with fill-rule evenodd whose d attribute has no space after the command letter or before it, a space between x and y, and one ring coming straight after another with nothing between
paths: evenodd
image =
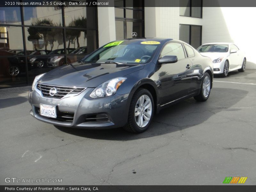
<instances>
[{"instance_id":1,"label":"front wheel, tire and rim, of the dark grey Nissan coupe","mask_svg":"<svg viewBox=\"0 0 256 192\"><path fill-rule=\"evenodd\" d=\"M128 122L124 129L141 133L148 129L154 115L154 100L147 89L138 89L131 100Z\"/></svg>"}]
</instances>

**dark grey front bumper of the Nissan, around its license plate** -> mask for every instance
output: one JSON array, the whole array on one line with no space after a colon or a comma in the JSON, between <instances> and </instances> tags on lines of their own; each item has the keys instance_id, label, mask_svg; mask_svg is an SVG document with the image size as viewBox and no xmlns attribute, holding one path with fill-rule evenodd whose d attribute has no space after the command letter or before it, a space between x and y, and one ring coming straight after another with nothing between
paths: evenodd
<instances>
[{"instance_id":1,"label":"dark grey front bumper of the Nissan, around its license plate","mask_svg":"<svg viewBox=\"0 0 256 192\"><path fill-rule=\"evenodd\" d=\"M94 88L87 88L77 96L63 98L61 100L52 100L42 98L35 90L29 91L28 100L32 106L30 114L36 119L45 123L50 123L65 127L76 127L84 129L108 129L123 127L128 119L128 110L130 106L130 94L118 95L117 93L110 97L92 99L90 93ZM73 120L65 121L63 119L54 119L41 116L38 112L41 104L56 106L58 113L73 113ZM88 122L89 116L105 114L108 121Z\"/></svg>"}]
</instances>

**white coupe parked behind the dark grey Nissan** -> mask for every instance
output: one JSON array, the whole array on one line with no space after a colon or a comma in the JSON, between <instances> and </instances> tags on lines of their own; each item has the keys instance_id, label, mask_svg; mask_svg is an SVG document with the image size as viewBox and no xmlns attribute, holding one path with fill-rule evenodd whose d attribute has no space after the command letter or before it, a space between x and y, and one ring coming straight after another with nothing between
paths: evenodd
<instances>
[{"instance_id":1,"label":"white coupe parked behind the dark grey Nissan","mask_svg":"<svg viewBox=\"0 0 256 192\"><path fill-rule=\"evenodd\" d=\"M214 74L226 77L230 71L245 71L245 54L233 43L203 44L197 48L197 51L212 59Z\"/></svg>"}]
</instances>

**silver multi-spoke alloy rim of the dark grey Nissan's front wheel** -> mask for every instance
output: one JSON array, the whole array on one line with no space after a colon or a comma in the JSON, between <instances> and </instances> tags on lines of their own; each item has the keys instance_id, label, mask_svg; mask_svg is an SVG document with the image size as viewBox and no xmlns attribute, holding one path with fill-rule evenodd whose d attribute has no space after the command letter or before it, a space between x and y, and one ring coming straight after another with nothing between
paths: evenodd
<instances>
[{"instance_id":1,"label":"silver multi-spoke alloy rim of the dark grey Nissan's front wheel","mask_svg":"<svg viewBox=\"0 0 256 192\"><path fill-rule=\"evenodd\" d=\"M135 121L139 127L145 127L151 119L152 116L152 102L148 95L141 95L138 99L135 111L134 111Z\"/></svg>"}]
</instances>

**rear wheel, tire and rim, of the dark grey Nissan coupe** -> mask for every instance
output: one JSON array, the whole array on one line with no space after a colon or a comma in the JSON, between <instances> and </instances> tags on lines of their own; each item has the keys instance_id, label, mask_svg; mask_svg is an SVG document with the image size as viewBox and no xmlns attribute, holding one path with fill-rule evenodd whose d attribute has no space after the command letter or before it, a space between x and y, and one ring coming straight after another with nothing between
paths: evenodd
<instances>
[{"instance_id":1,"label":"rear wheel, tire and rim, of the dark grey Nissan coupe","mask_svg":"<svg viewBox=\"0 0 256 192\"><path fill-rule=\"evenodd\" d=\"M199 95L194 96L194 98L197 101L206 101L210 96L210 92L211 92L211 77L209 73L205 72L200 93Z\"/></svg>"}]
</instances>

